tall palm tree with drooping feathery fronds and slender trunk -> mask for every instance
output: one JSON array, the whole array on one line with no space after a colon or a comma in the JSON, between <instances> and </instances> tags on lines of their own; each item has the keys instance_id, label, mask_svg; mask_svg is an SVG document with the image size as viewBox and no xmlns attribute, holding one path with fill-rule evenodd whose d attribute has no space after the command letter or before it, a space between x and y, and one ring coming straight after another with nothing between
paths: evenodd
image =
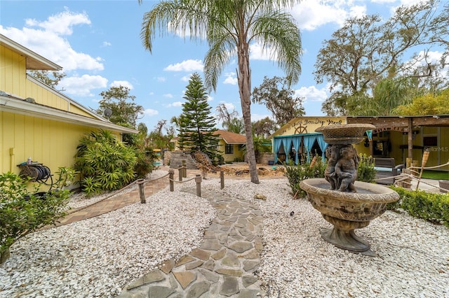
<instances>
[{"instance_id":1,"label":"tall palm tree with drooping feathery fronds and slender trunk","mask_svg":"<svg viewBox=\"0 0 449 298\"><path fill-rule=\"evenodd\" d=\"M139 0L141 3L143 0ZM289 83L297 83L301 72L300 30L284 8L299 0L171 0L157 3L145 13L141 38L152 52L153 38L159 32L180 32L192 41L208 41L204 59L204 83L216 90L222 70L237 56L236 69L251 182L259 183L253 134L251 132L250 44L259 43L276 55Z\"/></svg>"}]
</instances>

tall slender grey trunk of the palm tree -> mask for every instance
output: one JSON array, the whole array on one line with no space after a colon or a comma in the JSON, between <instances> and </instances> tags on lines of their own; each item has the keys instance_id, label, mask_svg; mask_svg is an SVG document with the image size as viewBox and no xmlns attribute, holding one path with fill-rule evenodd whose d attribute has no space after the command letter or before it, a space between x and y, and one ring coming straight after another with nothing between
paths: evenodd
<instances>
[{"instance_id":1,"label":"tall slender grey trunk of the palm tree","mask_svg":"<svg viewBox=\"0 0 449 298\"><path fill-rule=\"evenodd\" d=\"M249 67L249 45L243 43L238 45L238 48L239 70L237 72L237 77L239 80L241 112L243 113L243 123L245 124L246 155L248 158L251 182L259 184L253 144L253 127L251 125L251 72Z\"/></svg>"}]
</instances>

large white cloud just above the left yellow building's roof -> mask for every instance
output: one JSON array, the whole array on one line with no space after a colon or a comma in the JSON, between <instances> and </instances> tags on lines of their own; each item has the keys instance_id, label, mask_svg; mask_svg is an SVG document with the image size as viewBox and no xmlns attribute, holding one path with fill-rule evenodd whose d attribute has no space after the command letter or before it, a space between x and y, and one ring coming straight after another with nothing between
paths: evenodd
<instances>
[{"instance_id":1,"label":"large white cloud just above the left yellow building's roof","mask_svg":"<svg viewBox=\"0 0 449 298\"><path fill-rule=\"evenodd\" d=\"M82 52L76 52L65 38L72 34L72 27L79 24L91 24L86 13L65 11L51 15L43 22L27 20L27 27L22 29L0 25L0 33L59 64L64 71L76 69L102 71L105 67L101 57L91 57Z\"/></svg>"}]
</instances>

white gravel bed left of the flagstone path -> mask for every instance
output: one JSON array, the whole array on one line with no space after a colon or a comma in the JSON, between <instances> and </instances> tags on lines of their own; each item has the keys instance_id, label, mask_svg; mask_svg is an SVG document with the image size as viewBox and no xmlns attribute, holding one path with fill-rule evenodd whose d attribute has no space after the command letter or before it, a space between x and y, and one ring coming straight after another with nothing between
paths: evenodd
<instances>
[{"instance_id":1,"label":"white gravel bed left of the flagstone path","mask_svg":"<svg viewBox=\"0 0 449 298\"><path fill-rule=\"evenodd\" d=\"M35 232L1 265L0 297L114 297L163 260L199 246L215 215L206 199L167 187L147 204Z\"/></svg>"}]
</instances>

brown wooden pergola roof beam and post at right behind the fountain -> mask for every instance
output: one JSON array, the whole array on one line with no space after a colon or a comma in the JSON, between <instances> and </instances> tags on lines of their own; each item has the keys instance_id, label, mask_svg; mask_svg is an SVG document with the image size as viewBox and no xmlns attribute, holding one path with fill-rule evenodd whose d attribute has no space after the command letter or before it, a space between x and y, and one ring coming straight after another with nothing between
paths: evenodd
<instances>
[{"instance_id":1,"label":"brown wooden pergola roof beam and post at right behind the fountain","mask_svg":"<svg viewBox=\"0 0 449 298\"><path fill-rule=\"evenodd\" d=\"M425 116L347 116L348 124L368 123L376 128L373 134L393 130L408 133L408 157L413 159L414 127L449 127L449 115Z\"/></svg>"}]
</instances>

